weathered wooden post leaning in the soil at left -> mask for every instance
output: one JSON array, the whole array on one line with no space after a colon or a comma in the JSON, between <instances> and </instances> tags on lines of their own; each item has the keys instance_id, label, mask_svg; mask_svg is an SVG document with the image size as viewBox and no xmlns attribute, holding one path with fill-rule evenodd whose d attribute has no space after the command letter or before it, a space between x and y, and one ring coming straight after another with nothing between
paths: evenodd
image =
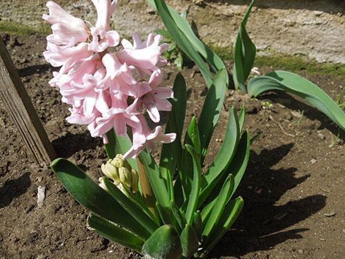
<instances>
[{"instance_id":1,"label":"weathered wooden post leaning in the soil at left","mask_svg":"<svg viewBox=\"0 0 345 259\"><path fill-rule=\"evenodd\" d=\"M34 111L30 97L1 37L0 98L34 159L39 164L50 163L56 157L55 150Z\"/></svg>"}]
</instances>

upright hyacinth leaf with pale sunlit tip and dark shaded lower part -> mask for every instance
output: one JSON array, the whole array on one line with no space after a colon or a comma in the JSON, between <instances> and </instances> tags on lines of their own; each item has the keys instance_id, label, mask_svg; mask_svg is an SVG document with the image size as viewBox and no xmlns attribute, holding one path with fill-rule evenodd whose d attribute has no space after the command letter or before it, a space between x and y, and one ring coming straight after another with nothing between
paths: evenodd
<instances>
[{"instance_id":1,"label":"upright hyacinth leaf with pale sunlit tip and dark shaded lower part","mask_svg":"<svg viewBox=\"0 0 345 259\"><path fill-rule=\"evenodd\" d=\"M208 90L204 106L199 117L199 135L201 142L201 155L205 157L208 144L217 125L221 107L224 103L226 91L226 70L219 70L212 86Z\"/></svg>"}]
</instances>

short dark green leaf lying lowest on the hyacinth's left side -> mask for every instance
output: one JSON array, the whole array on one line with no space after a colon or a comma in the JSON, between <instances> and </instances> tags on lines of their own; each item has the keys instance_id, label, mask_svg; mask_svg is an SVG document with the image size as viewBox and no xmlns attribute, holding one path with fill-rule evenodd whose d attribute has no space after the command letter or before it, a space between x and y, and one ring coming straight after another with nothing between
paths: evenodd
<instances>
[{"instance_id":1,"label":"short dark green leaf lying lowest on the hyacinth's left side","mask_svg":"<svg viewBox=\"0 0 345 259\"><path fill-rule=\"evenodd\" d=\"M103 238L112 242L117 242L141 253L141 247L144 244L143 240L135 236L133 233L126 231L126 229L122 229L116 224L105 220L98 215L93 213L88 215L88 229L94 231L100 236L103 236Z\"/></svg>"}]
</instances>

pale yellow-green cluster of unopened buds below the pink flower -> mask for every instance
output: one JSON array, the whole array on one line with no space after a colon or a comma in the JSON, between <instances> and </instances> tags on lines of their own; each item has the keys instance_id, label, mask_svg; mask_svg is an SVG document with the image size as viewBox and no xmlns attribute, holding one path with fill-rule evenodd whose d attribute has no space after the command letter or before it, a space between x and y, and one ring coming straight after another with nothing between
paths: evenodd
<instances>
[{"instance_id":1,"label":"pale yellow-green cluster of unopened buds below the pink flower","mask_svg":"<svg viewBox=\"0 0 345 259\"><path fill-rule=\"evenodd\" d=\"M122 155L117 155L114 159L110 159L106 164L101 165L102 172L111 180L114 184L124 193L124 187L132 191L132 193L137 193L139 175L137 171L132 169L130 164Z\"/></svg>"}]
</instances>

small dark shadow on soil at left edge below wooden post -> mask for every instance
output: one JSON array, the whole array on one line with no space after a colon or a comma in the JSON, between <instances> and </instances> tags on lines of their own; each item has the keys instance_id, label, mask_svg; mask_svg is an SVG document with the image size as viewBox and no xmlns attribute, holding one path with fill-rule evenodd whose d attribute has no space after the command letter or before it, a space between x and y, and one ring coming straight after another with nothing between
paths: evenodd
<instances>
[{"instance_id":1,"label":"small dark shadow on soil at left edge below wooden post","mask_svg":"<svg viewBox=\"0 0 345 259\"><path fill-rule=\"evenodd\" d=\"M7 180L0 186L0 209L10 205L12 200L26 193L30 185L30 173L24 173L14 180Z\"/></svg>"}]
</instances>

